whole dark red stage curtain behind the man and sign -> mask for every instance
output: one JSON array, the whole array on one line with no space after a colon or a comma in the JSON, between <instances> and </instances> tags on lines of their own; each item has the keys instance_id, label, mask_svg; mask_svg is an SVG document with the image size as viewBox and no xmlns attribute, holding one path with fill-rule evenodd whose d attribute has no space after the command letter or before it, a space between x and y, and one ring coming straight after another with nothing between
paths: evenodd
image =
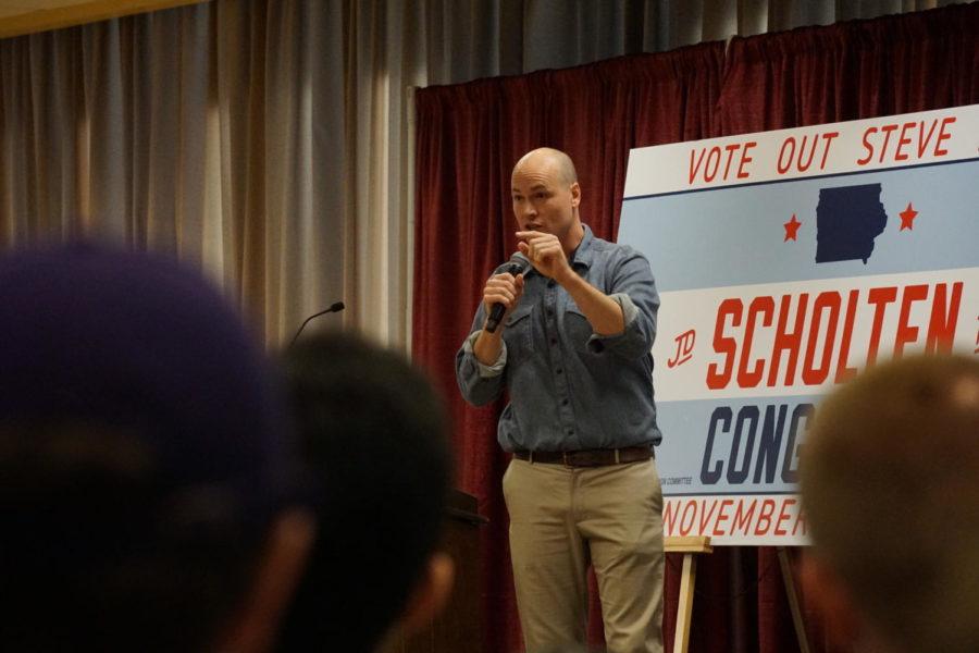
<instances>
[{"instance_id":1,"label":"whole dark red stage curtain behind the man and sign","mask_svg":"<svg viewBox=\"0 0 979 653\"><path fill-rule=\"evenodd\" d=\"M454 356L486 276L516 248L516 160L545 145L568 151L583 220L614 239L630 148L979 102L976 34L979 5L952 7L736 38L727 57L723 44L703 44L418 93L412 350L455 419L459 486L491 519L483 535L486 653L520 642L499 488L507 456L496 444L503 403L466 405ZM774 552L755 551L721 549L702 560L691 651L796 650ZM679 560L668 563L664 629L671 641ZM830 651L808 617L814 650Z\"/></svg>"}]
</instances>

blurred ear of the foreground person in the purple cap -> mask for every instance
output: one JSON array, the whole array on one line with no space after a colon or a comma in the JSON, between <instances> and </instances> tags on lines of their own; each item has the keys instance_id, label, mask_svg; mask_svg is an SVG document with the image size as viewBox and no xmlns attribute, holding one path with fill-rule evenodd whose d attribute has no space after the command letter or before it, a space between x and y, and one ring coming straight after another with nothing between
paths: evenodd
<instances>
[{"instance_id":1,"label":"blurred ear of the foreground person in the purple cap","mask_svg":"<svg viewBox=\"0 0 979 653\"><path fill-rule=\"evenodd\" d=\"M315 532L315 517L306 509L287 510L272 522L251 591L220 633L215 650L264 653L274 648L278 627L306 570Z\"/></svg>"}]
</instances>

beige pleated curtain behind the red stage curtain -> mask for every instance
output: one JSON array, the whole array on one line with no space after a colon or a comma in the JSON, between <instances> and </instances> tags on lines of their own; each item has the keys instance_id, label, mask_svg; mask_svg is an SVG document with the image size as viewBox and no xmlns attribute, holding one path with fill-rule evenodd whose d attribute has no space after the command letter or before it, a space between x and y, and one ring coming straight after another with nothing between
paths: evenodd
<instances>
[{"instance_id":1,"label":"beige pleated curtain behind the red stage curtain","mask_svg":"<svg viewBox=\"0 0 979 653\"><path fill-rule=\"evenodd\" d=\"M203 269L269 346L409 346L412 89L945 2L214 0L0 41L0 247Z\"/></svg>"}]
</instances>

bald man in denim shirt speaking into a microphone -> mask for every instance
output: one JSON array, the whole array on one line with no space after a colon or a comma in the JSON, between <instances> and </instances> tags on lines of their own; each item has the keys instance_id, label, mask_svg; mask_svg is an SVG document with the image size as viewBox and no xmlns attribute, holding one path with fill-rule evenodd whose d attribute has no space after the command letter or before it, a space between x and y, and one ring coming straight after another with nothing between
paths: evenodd
<instances>
[{"instance_id":1,"label":"bald man in denim shirt speaking into a microphone","mask_svg":"<svg viewBox=\"0 0 979 653\"><path fill-rule=\"evenodd\" d=\"M530 267L497 269L456 356L476 406L509 391L498 440L526 650L585 642L586 571L598 579L611 653L662 651L661 440L653 401L659 296L649 262L596 238L571 159L542 148L511 178ZM505 313L492 329L487 316Z\"/></svg>"}]
</instances>

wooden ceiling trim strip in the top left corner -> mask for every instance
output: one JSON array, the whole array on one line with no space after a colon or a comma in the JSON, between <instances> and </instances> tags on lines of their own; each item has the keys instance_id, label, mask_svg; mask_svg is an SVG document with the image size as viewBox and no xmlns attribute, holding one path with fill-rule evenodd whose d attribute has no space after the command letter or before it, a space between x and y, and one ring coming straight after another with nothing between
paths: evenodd
<instances>
[{"instance_id":1,"label":"wooden ceiling trim strip in the top left corner","mask_svg":"<svg viewBox=\"0 0 979 653\"><path fill-rule=\"evenodd\" d=\"M0 38L201 1L203 0L0 0Z\"/></svg>"}]
</instances>

